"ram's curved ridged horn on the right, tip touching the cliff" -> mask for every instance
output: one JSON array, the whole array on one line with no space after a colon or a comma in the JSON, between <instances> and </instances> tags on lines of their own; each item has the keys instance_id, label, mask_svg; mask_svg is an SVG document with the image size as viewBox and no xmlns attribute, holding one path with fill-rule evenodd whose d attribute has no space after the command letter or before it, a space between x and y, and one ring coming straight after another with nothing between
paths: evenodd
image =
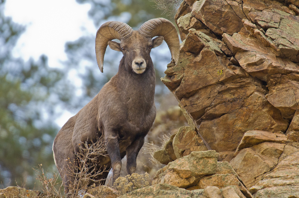
<instances>
[{"instance_id":1,"label":"ram's curved ridged horn on the right, tip touching the cliff","mask_svg":"<svg viewBox=\"0 0 299 198\"><path fill-rule=\"evenodd\" d=\"M176 27L169 20L165 18L151 19L141 25L138 32L147 38L163 36L170 49L171 58L175 61L175 64L178 63L180 55L179 35Z\"/></svg>"}]
</instances>

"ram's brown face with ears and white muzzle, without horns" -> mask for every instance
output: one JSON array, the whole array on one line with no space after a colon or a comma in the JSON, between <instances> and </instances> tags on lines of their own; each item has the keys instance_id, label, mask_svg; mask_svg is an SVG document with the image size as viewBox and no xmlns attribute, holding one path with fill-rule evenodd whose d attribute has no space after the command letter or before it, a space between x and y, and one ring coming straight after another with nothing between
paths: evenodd
<instances>
[{"instance_id":1,"label":"ram's brown face with ears and white muzzle, without horns","mask_svg":"<svg viewBox=\"0 0 299 198\"><path fill-rule=\"evenodd\" d=\"M126 66L130 67L137 74L142 74L149 64L149 53L152 48L159 46L163 41L163 36L151 39L142 36L134 31L131 36L122 39L120 43L109 41L109 47L116 51L123 52Z\"/></svg>"}]
</instances>

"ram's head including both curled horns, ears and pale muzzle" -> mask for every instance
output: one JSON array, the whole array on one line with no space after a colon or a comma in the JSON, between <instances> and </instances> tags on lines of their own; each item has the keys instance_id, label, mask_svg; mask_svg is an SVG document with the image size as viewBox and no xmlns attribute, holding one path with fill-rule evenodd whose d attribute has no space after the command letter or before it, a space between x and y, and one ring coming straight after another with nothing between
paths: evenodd
<instances>
[{"instance_id":1,"label":"ram's head including both curled horns, ears and pale muzzle","mask_svg":"<svg viewBox=\"0 0 299 198\"><path fill-rule=\"evenodd\" d=\"M154 39L153 37L158 36ZM120 43L112 41L119 39ZM103 60L106 47L123 53L126 65L131 66L135 73L141 74L149 63L149 53L152 48L159 46L163 39L166 41L171 57L178 62L179 36L174 25L165 18L155 18L145 22L137 31L129 25L110 21L104 23L96 35L96 56L100 71L103 72Z\"/></svg>"}]
</instances>

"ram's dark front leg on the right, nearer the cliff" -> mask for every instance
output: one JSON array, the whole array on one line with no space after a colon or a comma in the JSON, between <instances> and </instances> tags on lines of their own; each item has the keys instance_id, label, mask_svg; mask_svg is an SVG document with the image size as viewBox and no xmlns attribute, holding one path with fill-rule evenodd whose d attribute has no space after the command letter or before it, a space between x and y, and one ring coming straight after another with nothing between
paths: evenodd
<instances>
[{"instance_id":1,"label":"ram's dark front leg on the right, nearer the cliff","mask_svg":"<svg viewBox=\"0 0 299 198\"><path fill-rule=\"evenodd\" d=\"M136 158L143 144L144 144L144 137L139 137L126 149L128 174L135 173L135 169L137 165Z\"/></svg>"}]
</instances>

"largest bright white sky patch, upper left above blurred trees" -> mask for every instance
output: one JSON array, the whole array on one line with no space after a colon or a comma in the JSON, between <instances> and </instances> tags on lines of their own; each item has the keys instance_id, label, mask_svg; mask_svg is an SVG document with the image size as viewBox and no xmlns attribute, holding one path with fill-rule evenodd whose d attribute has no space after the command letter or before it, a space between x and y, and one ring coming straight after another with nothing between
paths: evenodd
<instances>
[{"instance_id":1,"label":"largest bright white sky patch, upper left above blurred trees","mask_svg":"<svg viewBox=\"0 0 299 198\"><path fill-rule=\"evenodd\" d=\"M59 67L60 61L66 60L66 41L96 33L88 18L89 9L90 4L78 4L75 0L7 0L4 15L26 25L13 55L27 61L45 54L49 66Z\"/></svg>"}]
</instances>

